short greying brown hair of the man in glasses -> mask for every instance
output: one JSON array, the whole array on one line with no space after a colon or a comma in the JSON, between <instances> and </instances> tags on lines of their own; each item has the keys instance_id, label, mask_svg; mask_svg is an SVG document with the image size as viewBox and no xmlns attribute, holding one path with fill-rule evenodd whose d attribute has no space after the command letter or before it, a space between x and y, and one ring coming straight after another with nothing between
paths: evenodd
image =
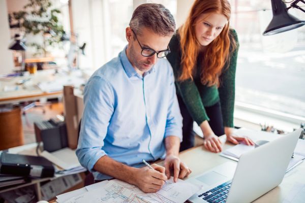
<instances>
[{"instance_id":1,"label":"short greying brown hair of the man in glasses","mask_svg":"<svg viewBox=\"0 0 305 203\"><path fill-rule=\"evenodd\" d=\"M173 15L162 4L141 4L132 14L129 26L141 35L141 28L146 27L160 36L173 35L176 23Z\"/></svg>"}]
</instances>

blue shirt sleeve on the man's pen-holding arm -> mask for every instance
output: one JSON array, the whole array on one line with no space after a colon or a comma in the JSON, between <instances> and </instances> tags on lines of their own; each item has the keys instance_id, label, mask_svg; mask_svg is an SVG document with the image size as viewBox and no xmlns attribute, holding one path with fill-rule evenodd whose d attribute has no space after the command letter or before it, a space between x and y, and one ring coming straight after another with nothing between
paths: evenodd
<instances>
[{"instance_id":1,"label":"blue shirt sleeve on the man's pen-holding arm","mask_svg":"<svg viewBox=\"0 0 305 203\"><path fill-rule=\"evenodd\" d=\"M114 111L114 94L109 82L95 76L86 84L84 111L81 120L76 155L80 164L94 171L96 162L104 155L104 139Z\"/></svg>"}]
</instances>

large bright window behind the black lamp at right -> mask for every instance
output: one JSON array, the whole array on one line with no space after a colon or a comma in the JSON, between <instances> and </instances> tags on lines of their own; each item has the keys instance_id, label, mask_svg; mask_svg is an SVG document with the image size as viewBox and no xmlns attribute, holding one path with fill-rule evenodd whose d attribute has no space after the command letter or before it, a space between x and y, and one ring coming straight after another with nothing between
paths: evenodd
<instances>
[{"instance_id":1,"label":"large bright window behind the black lamp at right","mask_svg":"<svg viewBox=\"0 0 305 203\"><path fill-rule=\"evenodd\" d=\"M231 26L239 38L235 100L305 117L305 26L262 36L272 18L266 0L231 0ZM289 13L305 19L305 13Z\"/></svg>"}]
</instances>

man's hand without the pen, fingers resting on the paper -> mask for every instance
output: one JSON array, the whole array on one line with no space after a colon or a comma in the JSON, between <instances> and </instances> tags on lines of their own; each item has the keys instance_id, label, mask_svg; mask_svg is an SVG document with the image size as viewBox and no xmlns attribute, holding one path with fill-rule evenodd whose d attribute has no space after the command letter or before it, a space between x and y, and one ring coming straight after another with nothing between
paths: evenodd
<instances>
[{"instance_id":1,"label":"man's hand without the pen, fingers resting on the paper","mask_svg":"<svg viewBox=\"0 0 305 203\"><path fill-rule=\"evenodd\" d=\"M181 162L178 156L168 155L164 160L165 174L167 178L170 178L170 169L174 170L174 182L177 182L178 178L182 179L192 173L184 162Z\"/></svg>"}]
</instances>

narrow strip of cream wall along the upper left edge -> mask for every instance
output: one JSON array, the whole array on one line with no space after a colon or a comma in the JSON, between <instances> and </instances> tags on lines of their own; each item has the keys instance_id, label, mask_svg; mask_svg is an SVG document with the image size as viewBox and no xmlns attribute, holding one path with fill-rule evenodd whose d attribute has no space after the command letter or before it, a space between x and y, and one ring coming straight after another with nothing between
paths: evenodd
<instances>
[{"instance_id":1,"label":"narrow strip of cream wall along the upper left edge","mask_svg":"<svg viewBox=\"0 0 305 203\"><path fill-rule=\"evenodd\" d=\"M11 73L14 67L10 44L10 28L6 0L0 0L0 74Z\"/></svg>"}]
</instances>

